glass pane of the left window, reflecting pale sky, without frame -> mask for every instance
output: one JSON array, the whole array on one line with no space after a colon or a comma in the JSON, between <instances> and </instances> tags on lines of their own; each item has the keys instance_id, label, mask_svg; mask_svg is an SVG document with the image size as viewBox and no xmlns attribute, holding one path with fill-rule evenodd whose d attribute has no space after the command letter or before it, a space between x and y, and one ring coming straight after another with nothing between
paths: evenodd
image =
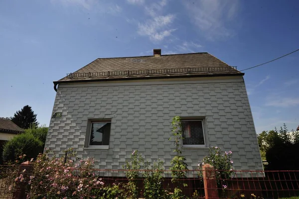
<instances>
[{"instance_id":1,"label":"glass pane of the left window, reflecting pale sky, without frame","mask_svg":"<svg viewBox=\"0 0 299 199\"><path fill-rule=\"evenodd\" d=\"M111 123L92 123L89 145L109 145Z\"/></svg>"}]
</instances>

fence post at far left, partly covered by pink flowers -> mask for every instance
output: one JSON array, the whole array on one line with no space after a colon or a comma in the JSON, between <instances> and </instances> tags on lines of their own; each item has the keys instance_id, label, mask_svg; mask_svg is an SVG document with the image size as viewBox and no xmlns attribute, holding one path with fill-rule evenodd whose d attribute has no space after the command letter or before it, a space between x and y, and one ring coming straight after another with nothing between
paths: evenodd
<instances>
[{"instance_id":1,"label":"fence post at far left, partly covered by pink flowers","mask_svg":"<svg viewBox=\"0 0 299 199\"><path fill-rule=\"evenodd\" d=\"M24 171L25 172L22 172ZM24 162L19 167L19 174L23 174L24 181L17 183L17 189L13 191L12 199L26 199L27 193L26 193L26 185L28 184L28 179L30 175L32 174L33 168L30 165L30 162Z\"/></svg>"}]
</instances>

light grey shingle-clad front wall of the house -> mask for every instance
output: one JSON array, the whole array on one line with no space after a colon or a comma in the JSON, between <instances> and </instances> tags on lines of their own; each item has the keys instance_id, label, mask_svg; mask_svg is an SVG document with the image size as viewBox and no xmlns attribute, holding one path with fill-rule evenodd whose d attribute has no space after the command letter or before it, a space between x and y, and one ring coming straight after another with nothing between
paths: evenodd
<instances>
[{"instance_id":1,"label":"light grey shingle-clad front wall of the house","mask_svg":"<svg viewBox=\"0 0 299 199\"><path fill-rule=\"evenodd\" d=\"M100 169L122 169L134 150L168 169L171 121L181 116L203 118L205 130L205 148L182 149L189 169L218 146L233 152L234 169L263 170L242 76L59 84L55 112L62 116L51 118L45 147L58 154L75 148ZM111 119L109 149L88 148L92 119Z\"/></svg>"}]
</instances>

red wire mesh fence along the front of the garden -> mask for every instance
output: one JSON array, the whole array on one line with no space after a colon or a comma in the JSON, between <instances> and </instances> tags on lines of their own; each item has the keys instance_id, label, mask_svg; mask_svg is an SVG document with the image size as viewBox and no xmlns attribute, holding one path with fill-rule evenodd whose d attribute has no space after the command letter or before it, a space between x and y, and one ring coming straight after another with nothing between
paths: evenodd
<instances>
[{"instance_id":1,"label":"red wire mesh fence along the front of the garden","mask_svg":"<svg viewBox=\"0 0 299 199\"><path fill-rule=\"evenodd\" d=\"M8 181L13 175L19 175L19 168L19 166L0 166L0 199L19 199L9 191L11 181ZM61 170L61 168L55 169ZM82 171L80 169L71 170L74 174L72 178L86 172L86 170ZM87 172L93 176L89 177L88 180L101 177L105 185L117 183L120 185L120 189L124 189L124 186L121 185L128 183L128 179L123 177L126 176L128 171L132 170L90 169ZM136 182L138 183L140 198L144 197L144 174L149 171L138 170L140 178L136 179ZM187 187L181 186L180 189L188 199L204 199L207 197L206 193L211 192L217 193L214 199L279 199L290 197L298 197L292 199L299 199L299 171L233 171L232 178L217 175L209 177L206 186L204 182L207 182L200 177L201 170L187 170L185 172L186 177L181 178L179 181L187 184ZM163 170L163 177L163 189L171 195L174 187L178 184L171 182L170 170ZM28 183L28 180L24 180L23 183ZM86 196L85 198L92 198L92 196ZM209 197L209 199L211 198Z\"/></svg>"}]
</instances>

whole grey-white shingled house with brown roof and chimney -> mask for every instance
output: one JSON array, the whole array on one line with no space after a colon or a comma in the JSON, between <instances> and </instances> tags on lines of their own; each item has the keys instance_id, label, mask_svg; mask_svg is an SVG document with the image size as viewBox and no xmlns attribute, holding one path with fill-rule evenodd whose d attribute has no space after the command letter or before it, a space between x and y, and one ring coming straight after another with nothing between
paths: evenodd
<instances>
[{"instance_id":1,"label":"whole grey-white shingled house with brown roof and chimney","mask_svg":"<svg viewBox=\"0 0 299 199\"><path fill-rule=\"evenodd\" d=\"M99 58L54 81L46 148L75 148L100 169L122 169L132 151L169 168L171 121L180 116L182 154L195 169L218 146L236 170L263 170L241 73L203 53Z\"/></svg>"}]
</instances>

